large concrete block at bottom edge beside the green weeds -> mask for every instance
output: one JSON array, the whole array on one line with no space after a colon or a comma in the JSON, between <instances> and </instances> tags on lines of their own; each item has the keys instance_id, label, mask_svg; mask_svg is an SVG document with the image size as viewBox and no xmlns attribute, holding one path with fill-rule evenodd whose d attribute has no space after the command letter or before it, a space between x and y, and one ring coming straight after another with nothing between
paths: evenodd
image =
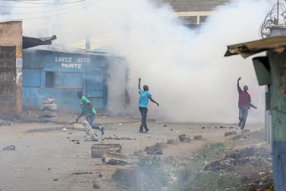
<instances>
[{"instance_id":1,"label":"large concrete block at bottom edge beside the green weeds","mask_svg":"<svg viewBox=\"0 0 286 191\"><path fill-rule=\"evenodd\" d=\"M140 169L138 165L127 165L116 168L115 174L129 182L130 187L135 190L141 189Z\"/></svg>"}]
</instances>

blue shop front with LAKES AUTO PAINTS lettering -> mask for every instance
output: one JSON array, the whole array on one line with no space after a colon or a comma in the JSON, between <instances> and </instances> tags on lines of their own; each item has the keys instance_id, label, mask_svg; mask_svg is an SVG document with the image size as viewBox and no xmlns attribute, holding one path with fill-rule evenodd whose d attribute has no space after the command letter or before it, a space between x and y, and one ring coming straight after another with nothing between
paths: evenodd
<instances>
[{"instance_id":1,"label":"blue shop front with LAKES AUTO PAINTS lettering","mask_svg":"<svg viewBox=\"0 0 286 191\"><path fill-rule=\"evenodd\" d=\"M79 112L76 93L82 90L97 112L106 112L108 65L124 59L83 49L23 50L23 110L39 110L42 99L52 97L58 111Z\"/></svg>"}]
</instances>

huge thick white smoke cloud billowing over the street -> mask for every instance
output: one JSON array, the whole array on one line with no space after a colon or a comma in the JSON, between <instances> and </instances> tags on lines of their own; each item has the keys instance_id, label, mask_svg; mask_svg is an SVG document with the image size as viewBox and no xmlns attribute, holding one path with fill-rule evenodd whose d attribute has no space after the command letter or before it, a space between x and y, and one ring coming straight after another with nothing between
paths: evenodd
<instances>
[{"instance_id":1,"label":"huge thick white smoke cloud billowing over the street","mask_svg":"<svg viewBox=\"0 0 286 191\"><path fill-rule=\"evenodd\" d=\"M14 13L40 12L81 3L5 10ZM140 115L137 84L141 77L141 87L147 84L152 98L160 104L157 107L149 103L150 118L181 122L236 122L236 83L237 78L242 76L241 86L248 85L252 103L259 107L257 110L251 108L249 120L263 121L263 87L257 84L251 58L223 55L227 45L258 40L260 23L275 3L266 0L231 1L217 7L217 14L208 17L200 29L191 30L179 24L172 7L168 5L156 7L154 1L147 0L101 0L71 13L23 20L23 31L27 36L56 34L56 43L62 44L83 40L80 48L89 35L98 37L100 41L91 42L94 47L103 43L106 47L120 50L130 66L129 113ZM23 6L25 3L5 4ZM86 5L46 13L2 15L2 18L44 17ZM46 26L51 28L44 29Z\"/></svg>"}]
</instances>

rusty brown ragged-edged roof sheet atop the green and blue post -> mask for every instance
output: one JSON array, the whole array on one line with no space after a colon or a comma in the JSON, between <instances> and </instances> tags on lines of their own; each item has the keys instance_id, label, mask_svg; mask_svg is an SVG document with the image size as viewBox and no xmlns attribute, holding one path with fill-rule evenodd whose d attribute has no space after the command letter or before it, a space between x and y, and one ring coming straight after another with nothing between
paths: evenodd
<instances>
[{"instance_id":1,"label":"rusty brown ragged-edged roof sheet atop the green and blue post","mask_svg":"<svg viewBox=\"0 0 286 191\"><path fill-rule=\"evenodd\" d=\"M286 36L273 36L252 42L245 42L227 46L225 56L241 54L247 58L253 54L263 52L269 49L274 49L275 52L283 52L286 48Z\"/></svg>"}]
</instances>

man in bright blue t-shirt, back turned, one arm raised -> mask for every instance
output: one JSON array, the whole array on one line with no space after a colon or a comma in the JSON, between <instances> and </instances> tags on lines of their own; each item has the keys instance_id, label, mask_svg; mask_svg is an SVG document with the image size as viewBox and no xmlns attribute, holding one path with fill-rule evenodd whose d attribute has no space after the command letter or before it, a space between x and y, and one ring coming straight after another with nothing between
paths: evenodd
<instances>
[{"instance_id":1,"label":"man in bright blue t-shirt, back turned, one arm raised","mask_svg":"<svg viewBox=\"0 0 286 191\"><path fill-rule=\"evenodd\" d=\"M138 88L139 88L139 94L140 94L139 111L140 111L141 116L142 116L142 121L141 121L140 129L139 129L139 133L147 133L149 131L149 129L147 128L146 117L147 117L147 112L148 112L147 107L148 107L149 99L153 103L156 103L158 106L159 106L159 104L152 99L152 97L151 97L152 95L150 94L150 92L148 92L149 87L147 85L143 86L144 90L142 90L140 88L141 78L139 78L138 80L139 80ZM143 127L145 129L145 132L143 131Z\"/></svg>"}]
</instances>

